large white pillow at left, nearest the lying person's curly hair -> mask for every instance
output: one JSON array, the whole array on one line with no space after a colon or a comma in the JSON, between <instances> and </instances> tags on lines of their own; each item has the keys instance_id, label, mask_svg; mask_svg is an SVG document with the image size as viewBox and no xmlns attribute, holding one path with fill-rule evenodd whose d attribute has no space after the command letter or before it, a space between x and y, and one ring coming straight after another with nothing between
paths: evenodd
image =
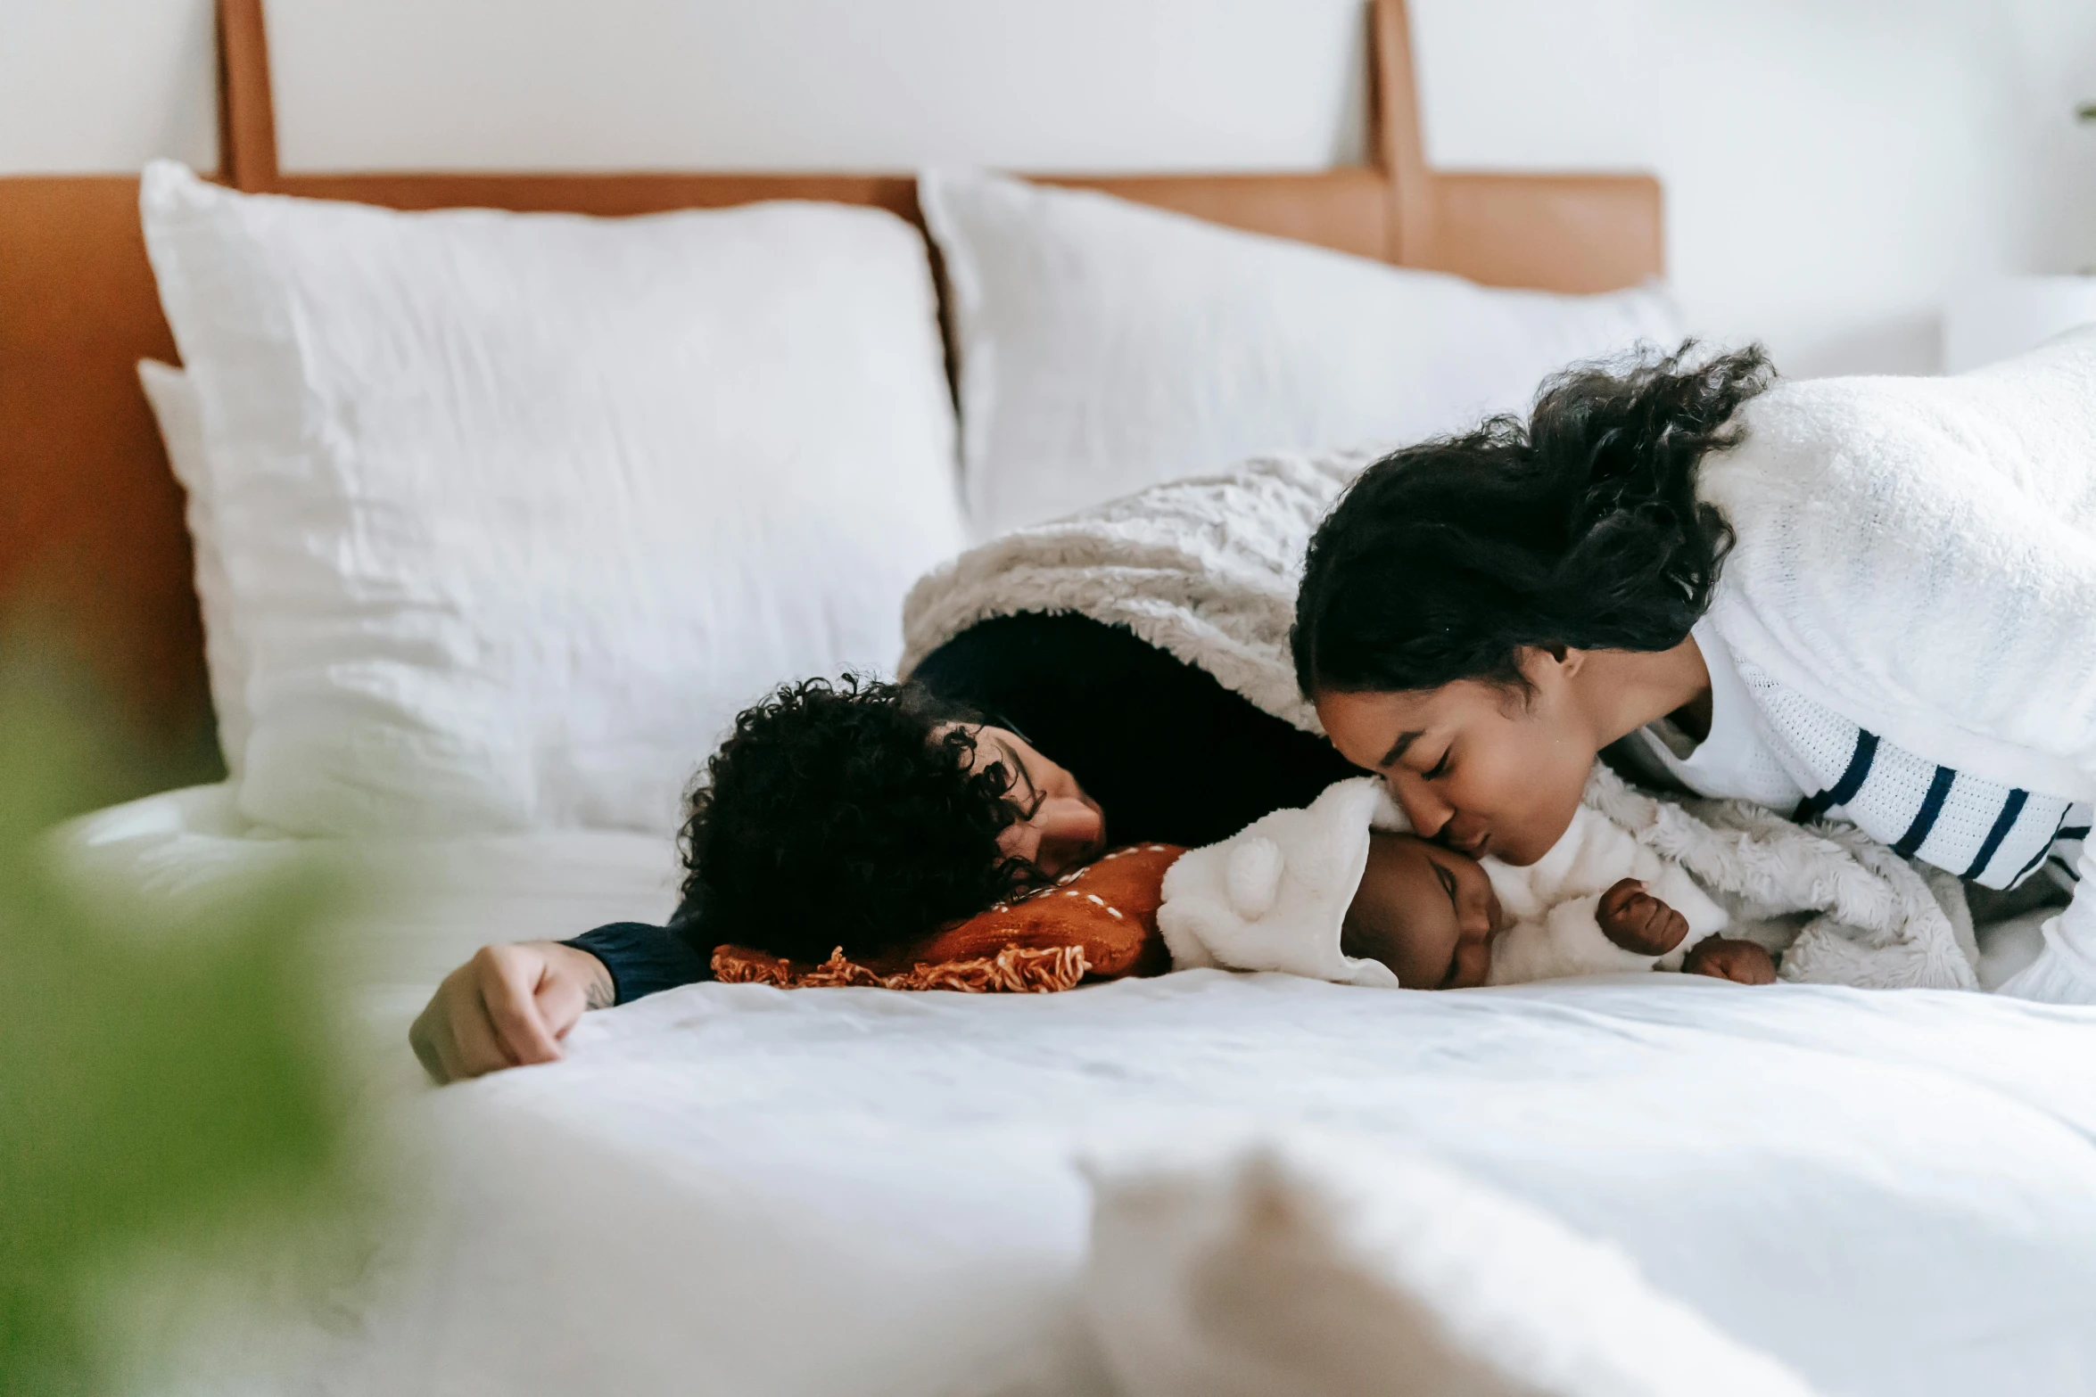
<instances>
[{"instance_id":1,"label":"large white pillow at left, nearest the lying person's curly hair","mask_svg":"<svg viewBox=\"0 0 2096 1397\"><path fill-rule=\"evenodd\" d=\"M667 829L769 685L891 666L962 536L918 235L398 214L145 172L249 656L241 813Z\"/></svg>"}]
</instances>

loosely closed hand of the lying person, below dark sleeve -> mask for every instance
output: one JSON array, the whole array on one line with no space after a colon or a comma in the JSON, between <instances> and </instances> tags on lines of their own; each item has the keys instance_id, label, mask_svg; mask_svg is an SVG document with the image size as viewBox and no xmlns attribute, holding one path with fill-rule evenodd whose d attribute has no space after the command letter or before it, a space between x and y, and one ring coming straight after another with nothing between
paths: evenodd
<instances>
[{"instance_id":1,"label":"loosely closed hand of the lying person, below dark sleeve","mask_svg":"<svg viewBox=\"0 0 2096 1397\"><path fill-rule=\"evenodd\" d=\"M558 940L480 947L438 984L409 1043L438 1083L560 1062L583 1012L612 997L612 976L589 951Z\"/></svg>"}]
</instances>

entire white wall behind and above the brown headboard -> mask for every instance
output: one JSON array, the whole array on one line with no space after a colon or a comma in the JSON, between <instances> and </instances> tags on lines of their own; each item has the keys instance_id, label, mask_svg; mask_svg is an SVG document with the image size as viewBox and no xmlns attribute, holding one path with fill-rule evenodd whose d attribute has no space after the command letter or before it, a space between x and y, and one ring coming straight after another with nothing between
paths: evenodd
<instances>
[{"instance_id":1,"label":"entire white wall behind and above the brown headboard","mask_svg":"<svg viewBox=\"0 0 2096 1397\"><path fill-rule=\"evenodd\" d=\"M1928 371L2096 264L2092 0L1413 0L1448 165L1645 168L1698 331ZM1358 0L270 0L291 168L1316 168ZM0 172L214 161L208 0L0 0Z\"/></svg>"}]
</instances>

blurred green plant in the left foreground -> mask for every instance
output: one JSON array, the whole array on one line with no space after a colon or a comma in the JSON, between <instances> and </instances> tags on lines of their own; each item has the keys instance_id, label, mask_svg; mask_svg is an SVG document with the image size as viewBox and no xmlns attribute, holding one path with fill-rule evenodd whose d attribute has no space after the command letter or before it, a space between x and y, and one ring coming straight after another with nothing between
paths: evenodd
<instances>
[{"instance_id":1,"label":"blurred green plant in the left foreground","mask_svg":"<svg viewBox=\"0 0 2096 1397\"><path fill-rule=\"evenodd\" d=\"M130 756L48 656L0 639L4 1397L136 1378L105 1332L111 1286L310 1221L340 1200L348 1135L321 993L333 882L293 867L182 905L88 896L48 831L134 785Z\"/></svg>"}]
</instances>

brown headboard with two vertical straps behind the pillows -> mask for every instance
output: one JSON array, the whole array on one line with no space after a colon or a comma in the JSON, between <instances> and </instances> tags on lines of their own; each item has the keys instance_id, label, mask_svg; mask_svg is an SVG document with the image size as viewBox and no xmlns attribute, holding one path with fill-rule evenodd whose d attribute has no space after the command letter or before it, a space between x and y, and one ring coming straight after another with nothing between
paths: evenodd
<instances>
[{"instance_id":1,"label":"brown headboard with two vertical straps behind the pillows","mask_svg":"<svg viewBox=\"0 0 2096 1397\"><path fill-rule=\"evenodd\" d=\"M1056 178L1220 224L1492 285L1608 291L1660 272L1641 174L1432 170L1404 0L1371 0L1373 163L1316 174ZM757 199L870 203L918 222L916 184L824 174L285 174L262 0L218 0L220 178L400 209L652 214ZM140 790L220 773L182 492L138 390L174 360L134 176L0 178L0 624L61 616L168 762Z\"/></svg>"}]
</instances>

